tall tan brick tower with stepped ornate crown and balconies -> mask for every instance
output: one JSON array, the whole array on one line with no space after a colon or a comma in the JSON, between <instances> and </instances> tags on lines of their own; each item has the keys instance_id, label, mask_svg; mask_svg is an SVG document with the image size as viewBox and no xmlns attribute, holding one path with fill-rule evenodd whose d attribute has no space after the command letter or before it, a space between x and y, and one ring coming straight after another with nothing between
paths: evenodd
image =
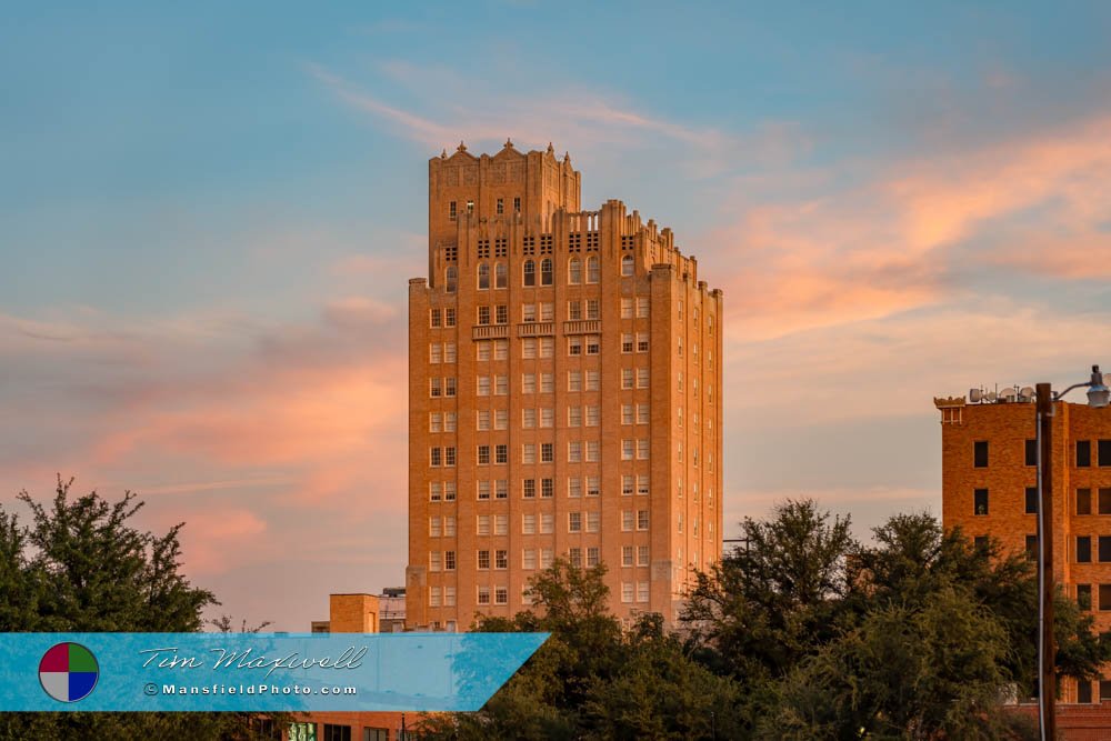
<instances>
[{"instance_id":1,"label":"tall tan brick tower with stepped ornate crown and balconies","mask_svg":"<svg viewBox=\"0 0 1111 741\"><path fill-rule=\"evenodd\" d=\"M721 291L669 229L580 210L570 157L429 161L409 281L407 627L512 615L557 557L677 615L721 554Z\"/></svg>"}]
</instances>

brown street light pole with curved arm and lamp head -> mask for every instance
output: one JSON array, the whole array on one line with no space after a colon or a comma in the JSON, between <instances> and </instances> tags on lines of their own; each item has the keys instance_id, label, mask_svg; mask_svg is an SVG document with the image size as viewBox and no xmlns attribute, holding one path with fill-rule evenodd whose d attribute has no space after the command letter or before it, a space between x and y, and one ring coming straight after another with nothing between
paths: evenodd
<instances>
[{"instance_id":1,"label":"brown street light pole with curved arm and lamp head","mask_svg":"<svg viewBox=\"0 0 1111 741\"><path fill-rule=\"evenodd\" d=\"M1111 390L1103 383L1099 366L1092 377L1054 393L1049 383L1037 387L1038 423L1038 720L1041 741L1057 739L1057 651L1053 647L1053 402L1073 389L1088 387L1088 405L1107 407Z\"/></svg>"}]
</instances>

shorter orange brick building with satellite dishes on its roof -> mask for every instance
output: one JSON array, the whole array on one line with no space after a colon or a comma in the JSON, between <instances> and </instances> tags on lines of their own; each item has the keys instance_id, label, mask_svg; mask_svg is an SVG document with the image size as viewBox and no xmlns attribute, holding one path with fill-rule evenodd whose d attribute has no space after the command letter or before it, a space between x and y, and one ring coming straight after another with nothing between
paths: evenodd
<instances>
[{"instance_id":1,"label":"shorter orange brick building with satellite dishes on its roof","mask_svg":"<svg viewBox=\"0 0 1111 741\"><path fill-rule=\"evenodd\" d=\"M934 399L941 412L942 520L1010 551L1037 551L1034 404ZM1054 402L1053 574L1064 593L1111 630L1111 408ZM1111 667L1098 683L1062 681L1061 700L1111 700Z\"/></svg>"}]
</instances>

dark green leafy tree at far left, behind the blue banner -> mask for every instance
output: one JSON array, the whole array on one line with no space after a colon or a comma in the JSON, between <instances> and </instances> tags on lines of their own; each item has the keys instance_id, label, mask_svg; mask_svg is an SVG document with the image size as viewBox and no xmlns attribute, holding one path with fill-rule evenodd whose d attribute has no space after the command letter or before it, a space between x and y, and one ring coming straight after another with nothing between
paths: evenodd
<instances>
[{"instance_id":1,"label":"dark green leafy tree at far left, behind the blue banner","mask_svg":"<svg viewBox=\"0 0 1111 741\"><path fill-rule=\"evenodd\" d=\"M180 571L178 534L131 524L142 508L126 492L71 497L58 478L41 504L21 491L31 522L0 507L0 631L192 632L216 595ZM246 713L0 713L0 739L251 739Z\"/></svg>"}]
</instances>

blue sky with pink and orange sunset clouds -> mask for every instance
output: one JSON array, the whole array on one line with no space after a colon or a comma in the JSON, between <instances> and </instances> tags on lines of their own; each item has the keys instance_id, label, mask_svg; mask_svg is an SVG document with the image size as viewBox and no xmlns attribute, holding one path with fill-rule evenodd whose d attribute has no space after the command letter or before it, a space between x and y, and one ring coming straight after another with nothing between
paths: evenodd
<instances>
[{"instance_id":1,"label":"blue sky with pink and orange sunset clouds","mask_svg":"<svg viewBox=\"0 0 1111 741\"><path fill-rule=\"evenodd\" d=\"M931 397L1111 366L1109 36L1095 2L10 8L0 481L138 490L283 629L401 583L426 162L512 137L725 290L727 519L939 512Z\"/></svg>"}]
</instances>

